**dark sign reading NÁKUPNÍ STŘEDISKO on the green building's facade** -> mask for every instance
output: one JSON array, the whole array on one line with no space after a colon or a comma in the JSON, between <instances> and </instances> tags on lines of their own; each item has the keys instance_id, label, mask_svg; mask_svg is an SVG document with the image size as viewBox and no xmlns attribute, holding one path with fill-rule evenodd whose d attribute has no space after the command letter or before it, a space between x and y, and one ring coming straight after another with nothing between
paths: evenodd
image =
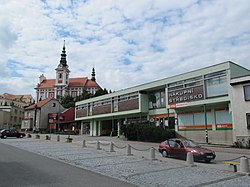
<instances>
[{"instance_id":1,"label":"dark sign reading N\u00c1KUPN\u00cd ST\u0158EDISKO on the green building's facade","mask_svg":"<svg viewBox=\"0 0 250 187\"><path fill-rule=\"evenodd\" d=\"M168 104L198 101L204 99L203 86L168 92Z\"/></svg>"}]
</instances>

